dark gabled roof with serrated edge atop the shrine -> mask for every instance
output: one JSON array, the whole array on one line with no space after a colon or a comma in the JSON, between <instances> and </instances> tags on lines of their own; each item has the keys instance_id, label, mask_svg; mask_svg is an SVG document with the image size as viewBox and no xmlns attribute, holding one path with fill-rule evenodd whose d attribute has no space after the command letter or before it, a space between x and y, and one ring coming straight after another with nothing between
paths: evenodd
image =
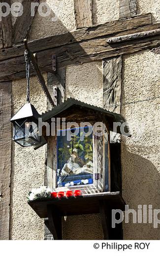
<instances>
[{"instance_id":1,"label":"dark gabled roof with serrated edge atop the shrine","mask_svg":"<svg viewBox=\"0 0 160 256\"><path fill-rule=\"evenodd\" d=\"M66 122L68 121L67 117L69 118L68 122L76 122L78 120L81 122L90 122L90 119L92 119L95 121L95 123L98 121L100 122L102 120L100 117L103 117L103 119L108 121L111 131L113 131L113 123L118 122L121 124L126 123L124 126L124 131L125 133L129 133L127 120L122 115L110 112L95 105L87 104L74 98L68 98L64 101L64 103L52 108L52 110L42 113L43 122L49 121L53 117L64 117L66 118ZM117 132L123 134L118 127Z\"/></svg>"}]
</instances>

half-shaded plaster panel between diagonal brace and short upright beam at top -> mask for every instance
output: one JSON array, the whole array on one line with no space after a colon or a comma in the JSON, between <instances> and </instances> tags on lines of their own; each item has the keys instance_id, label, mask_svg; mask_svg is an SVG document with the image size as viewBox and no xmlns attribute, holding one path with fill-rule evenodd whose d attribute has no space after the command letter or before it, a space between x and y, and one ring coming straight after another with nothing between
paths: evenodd
<instances>
[{"instance_id":1,"label":"half-shaded plaster panel between diagonal brace and short upright beam at top","mask_svg":"<svg viewBox=\"0 0 160 256\"><path fill-rule=\"evenodd\" d=\"M51 8L51 14L47 17L42 17L37 11L29 40L75 30L73 0L40 0L40 3L43 2L46 2ZM46 7L44 7L43 12L45 11ZM52 18L54 21L52 21Z\"/></svg>"}]
</instances>

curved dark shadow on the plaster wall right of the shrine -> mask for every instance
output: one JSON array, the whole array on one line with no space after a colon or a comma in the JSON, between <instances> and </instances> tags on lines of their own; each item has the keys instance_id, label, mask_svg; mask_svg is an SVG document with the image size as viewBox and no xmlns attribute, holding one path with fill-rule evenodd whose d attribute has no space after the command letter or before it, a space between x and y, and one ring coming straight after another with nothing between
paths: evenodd
<instances>
[{"instance_id":1,"label":"curved dark shadow on the plaster wall right of the shrine","mask_svg":"<svg viewBox=\"0 0 160 256\"><path fill-rule=\"evenodd\" d=\"M139 151L138 151L139 152ZM129 209L137 212L138 205L147 205L147 223L132 223L132 214L129 214L129 223L124 221L124 239L160 239L160 226L154 228L154 223L148 223L148 205L152 209L160 209L160 174L155 165L139 155L127 151L122 143L122 173L123 198ZM158 215L160 219L160 214Z\"/></svg>"}]
</instances>

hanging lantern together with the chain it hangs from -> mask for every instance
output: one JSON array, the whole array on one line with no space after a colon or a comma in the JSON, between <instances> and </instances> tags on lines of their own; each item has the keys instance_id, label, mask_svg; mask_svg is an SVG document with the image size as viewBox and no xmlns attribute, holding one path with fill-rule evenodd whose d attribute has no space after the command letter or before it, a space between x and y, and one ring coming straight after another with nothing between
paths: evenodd
<instances>
[{"instance_id":1,"label":"hanging lantern together with the chain it hangs from","mask_svg":"<svg viewBox=\"0 0 160 256\"><path fill-rule=\"evenodd\" d=\"M26 78L27 78L27 103L11 118L13 123L13 141L22 147L36 145L36 148L46 144L43 136L38 131L38 114L35 107L30 103L30 64L31 52L25 51Z\"/></svg>"}]
</instances>

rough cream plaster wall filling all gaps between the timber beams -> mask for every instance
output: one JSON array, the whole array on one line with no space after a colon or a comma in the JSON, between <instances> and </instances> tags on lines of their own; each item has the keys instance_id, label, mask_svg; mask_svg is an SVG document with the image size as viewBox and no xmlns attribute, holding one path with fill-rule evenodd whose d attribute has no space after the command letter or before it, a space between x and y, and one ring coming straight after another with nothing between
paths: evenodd
<instances>
[{"instance_id":1,"label":"rough cream plaster wall filling all gaps between the timber beams","mask_svg":"<svg viewBox=\"0 0 160 256\"><path fill-rule=\"evenodd\" d=\"M44 0L41 0L44 2ZM73 0L46 0L52 12L49 17L37 13L29 40L75 30ZM137 0L139 13L152 12L158 22L159 1ZM119 19L118 0L93 0L93 23ZM57 20L52 22L57 13ZM156 97L160 85L160 55L151 51L123 57L122 102ZM45 74L46 79L46 74ZM24 104L26 80L12 83L13 114ZM41 113L46 109L46 97L35 77L31 79L32 103ZM103 106L102 62L66 68L66 97ZM152 204L159 208L158 99L137 102L122 107L122 114L132 128L132 137L122 139L123 196L129 208ZM140 128L140 132L139 132ZM45 146L34 151L13 143L11 174L11 239L43 239L43 220L27 204L26 195L44 183ZM85 229L84 229L85 226ZM150 231L149 231L150 229ZM124 239L159 239L159 229L153 224L124 224ZM67 217L63 221L64 239L103 239L99 215Z\"/></svg>"}]
</instances>

